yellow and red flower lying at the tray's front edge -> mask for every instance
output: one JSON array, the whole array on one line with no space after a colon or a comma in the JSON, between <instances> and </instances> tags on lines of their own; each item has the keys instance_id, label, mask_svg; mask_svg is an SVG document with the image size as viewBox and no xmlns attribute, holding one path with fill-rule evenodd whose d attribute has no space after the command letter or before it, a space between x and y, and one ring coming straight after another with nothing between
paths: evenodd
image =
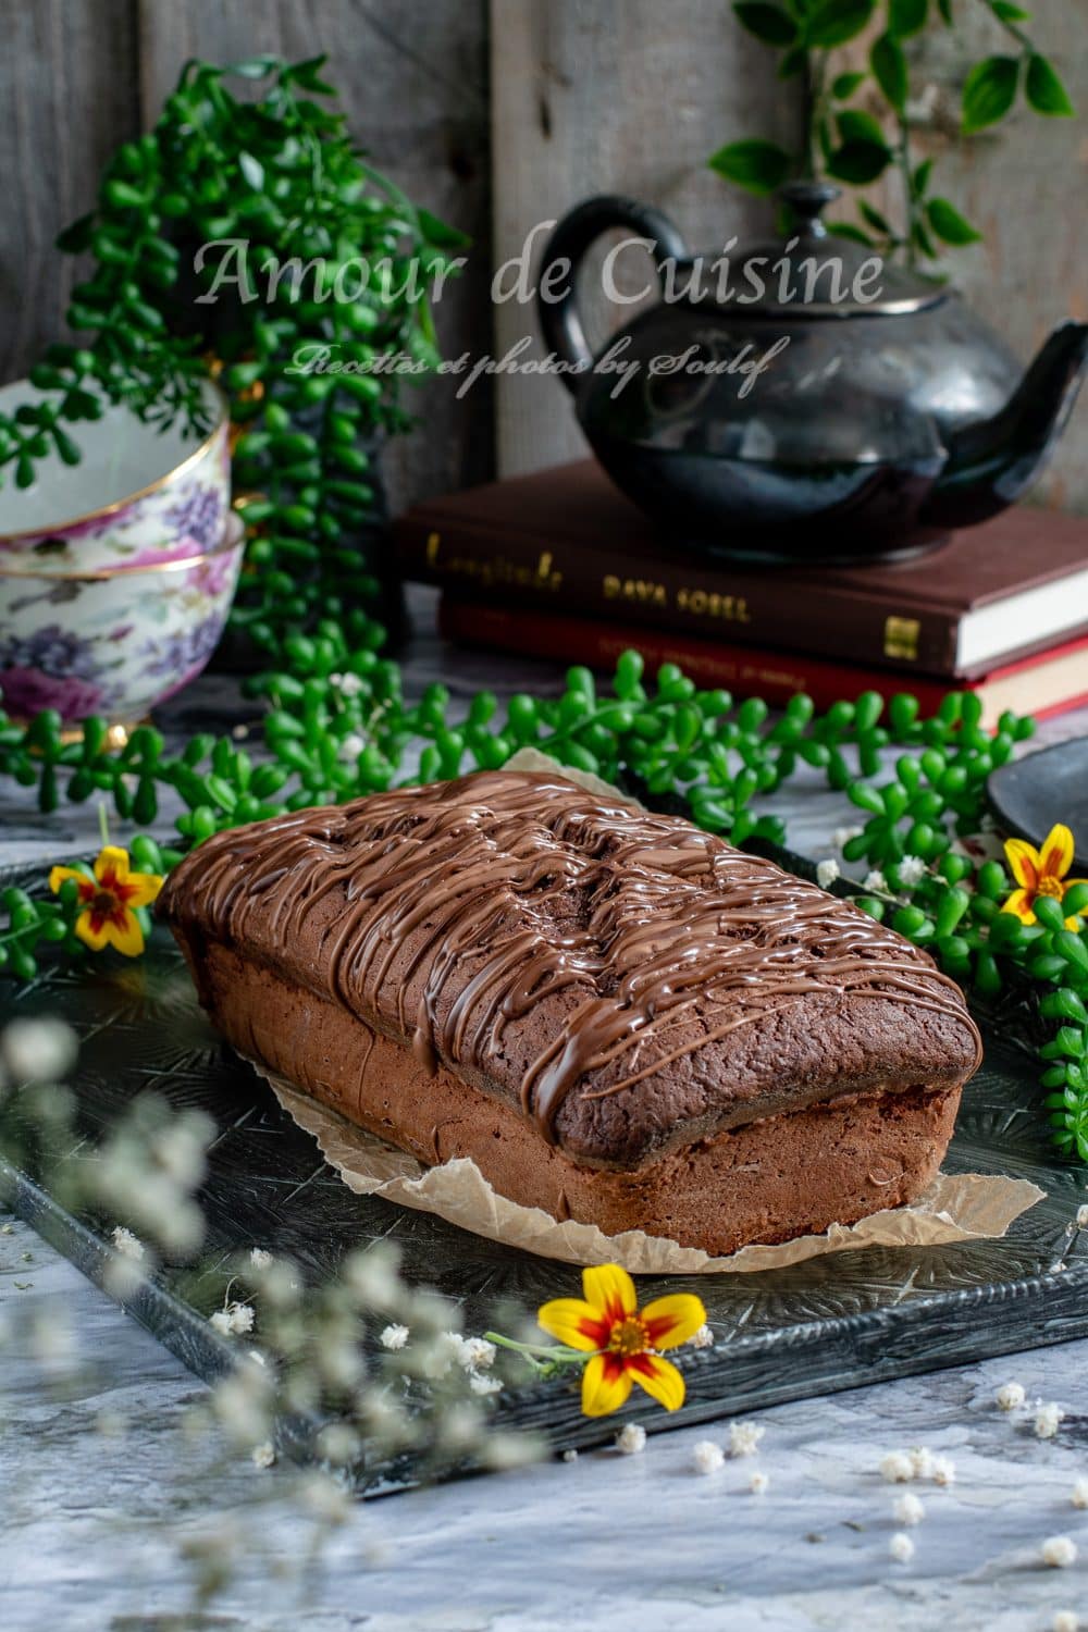
<instances>
[{"instance_id":1,"label":"yellow and red flower lying at the tray's front edge","mask_svg":"<svg viewBox=\"0 0 1088 1632\"><path fill-rule=\"evenodd\" d=\"M659 1350L695 1337L706 1320L701 1301L675 1293L639 1309L635 1281L617 1263L582 1270L582 1289L584 1299L553 1297L537 1312L545 1332L592 1356L582 1371L582 1412L618 1412L633 1382L667 1412L683 1405L683 1377Z\"/></svg>"}]
</instances>

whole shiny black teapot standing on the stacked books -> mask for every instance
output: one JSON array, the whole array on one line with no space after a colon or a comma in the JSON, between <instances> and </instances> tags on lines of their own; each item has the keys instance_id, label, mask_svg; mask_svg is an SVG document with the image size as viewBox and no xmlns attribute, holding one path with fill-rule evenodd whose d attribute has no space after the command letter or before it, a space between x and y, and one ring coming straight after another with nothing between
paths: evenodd
<instances>
[{"instance_id":1,"label":"whole shiny black teapot standing on the stacked books","mask_svg":"<svg viewBox=\"0 0 1088 1632\"><path fill-rule=\"evenodd\" d=\"M1015 503L1072 411L1088 325L1024 372L958 294L829 233L835 188L783 196L789 240L713 259L631 199L589 199L555 228L543 336L613 481L675 542L804 561L923 548ZM617 227L651 250L662 300L594 357L574 279ZM615 282L636 250L610 253Z\"/></svg>"}]
</instances>

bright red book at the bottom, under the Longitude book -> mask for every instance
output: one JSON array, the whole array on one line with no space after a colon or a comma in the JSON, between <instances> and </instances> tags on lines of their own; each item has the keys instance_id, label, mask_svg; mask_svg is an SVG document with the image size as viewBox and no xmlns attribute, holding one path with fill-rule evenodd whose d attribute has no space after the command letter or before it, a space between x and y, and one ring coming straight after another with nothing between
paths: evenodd
<instances>
[{"instance_id":1,"label":"bright red book at the bottom, under the Longitude book","mask_svg":"<svg viewBox=\"0 0 1088 1632\"><path fill-rule=\"evenodd\" d=\"M677 663L701 690L723 687L737 698L762 697L773 707L783 707L796 692L806 692L822 712L835 702L855 702L861 692L891 697L909 690L918 698L922 713L931 715L946 692L971 690L982 698L982 723L987 730L997 725L1006 708L1042 718L1088 702L1088 635L1005 664L985 677L951 685L922 674L889 674L887 669L829 663L791 651L669 635L595 619L556 617L520 607L502 609L452 596L442 596L439 633L462 645L491 646L525 658L551 658L564 666L581 663L602 672L612 672L620 653L635 648L651 674L662 663Z\"/></svg>"}]
</instances>

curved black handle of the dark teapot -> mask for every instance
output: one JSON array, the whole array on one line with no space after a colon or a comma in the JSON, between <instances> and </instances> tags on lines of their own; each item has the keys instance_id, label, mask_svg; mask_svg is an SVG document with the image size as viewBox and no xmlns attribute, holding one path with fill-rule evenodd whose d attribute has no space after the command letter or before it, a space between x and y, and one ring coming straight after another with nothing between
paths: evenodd
<instances>
[{"instance_id":1,"label":"curved black handle of the dark teapot","mask_svg":"<svg viewBox=\"0 0 1088 1632\"><path fill-rule=\"evenodd\" d=\"M537 279L537 310L548 349L582 372L590 366L594 354L582 328L574 284L586 251L610 227L630 227L638 238L651 240L659 274L662 259L688 259L680 228L659 209L651 209L649 204L639 204L636 199L604 193L599 197L586 199L584 204L577 204L563 217L545 245ZM569 263L566 277L556 273L556 286L551 287L548 273L559 261ZM563 372L559 379L573 392L579 375Z\"/></svg>"}]
</instances>

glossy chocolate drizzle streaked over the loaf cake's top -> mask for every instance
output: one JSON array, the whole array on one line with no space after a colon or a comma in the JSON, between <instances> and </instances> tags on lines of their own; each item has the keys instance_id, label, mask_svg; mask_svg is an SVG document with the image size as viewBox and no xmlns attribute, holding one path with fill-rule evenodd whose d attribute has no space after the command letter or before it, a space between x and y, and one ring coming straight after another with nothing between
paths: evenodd
<instances>
[{"instance_id":1,"label":"glossy chocolate drizzle streaked over the loaf cake's top","mask_svg":"<svg viewBox=\"0 0 1088 1632\"><path fill-rule=\"evenodd\" d=\"M219 834L183 870L189 902L237 943L269 896L277 943L312 935L316 914L328 991L354 1013L378 1012L396 966L400 1036L429 1067L484 1072L512 1020L574 987L520 1084L550 1141L579 1084L586 1098L620 1093L812 992L951 1017L980 1054L956 984L892 930L698 827L559 778L480 772L299 811ZM325 922L329 896L346 906ZM612 1062L617 1080L584 1085Z\"/></svg>"}]
</instances>

